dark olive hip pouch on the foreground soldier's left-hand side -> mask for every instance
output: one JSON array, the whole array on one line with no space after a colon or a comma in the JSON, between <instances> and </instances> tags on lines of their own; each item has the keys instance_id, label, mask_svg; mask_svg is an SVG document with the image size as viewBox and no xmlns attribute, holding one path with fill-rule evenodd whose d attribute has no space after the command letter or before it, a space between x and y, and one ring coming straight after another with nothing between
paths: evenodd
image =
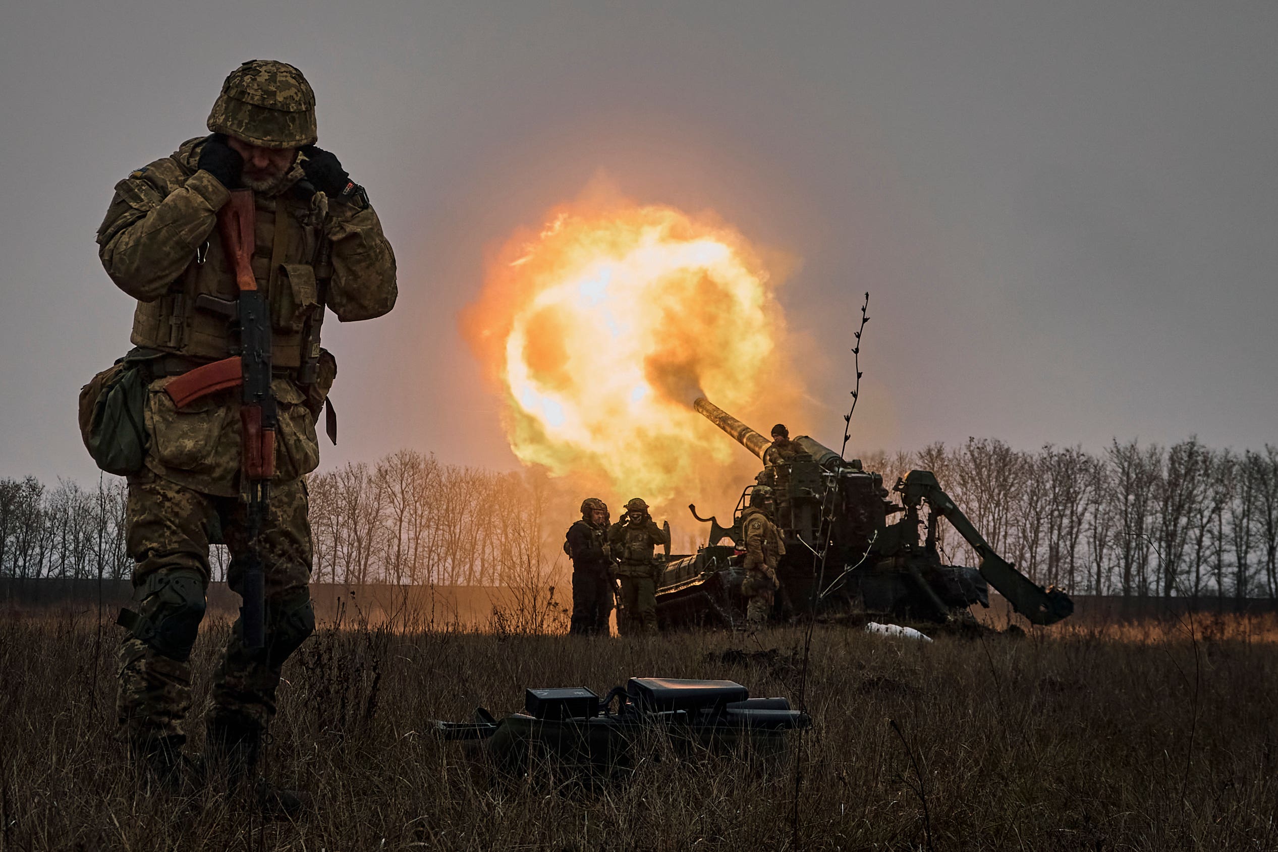
<instances>
[{"instance_id":1,"label":"dark olive hip pouch on the foreground soldier's left-hand side","mask_svg":"<svg viewBox=\"0 0 1278 852\"><path fill-rule=\"evenodd\" d=\"M151 439L146 429L146 359L125 355L81 388L79 427L84 448L109 474L142 470Z\"/></svg>"}]
</instances>

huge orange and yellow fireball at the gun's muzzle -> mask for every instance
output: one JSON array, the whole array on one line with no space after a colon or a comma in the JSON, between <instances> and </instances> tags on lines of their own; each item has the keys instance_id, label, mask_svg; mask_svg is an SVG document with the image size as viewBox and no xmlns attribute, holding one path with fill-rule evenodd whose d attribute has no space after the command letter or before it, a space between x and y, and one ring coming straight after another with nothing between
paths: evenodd
<instances>
[{"instance_id":1,"label":"huge orange and yellow fireball at the gun's muzzle","mask_svg":"<svg viewBox=\"0 0 1278 852\"><path fill-rule=\"evenodd\" d=\"M777 372L773 281L731 227L624 202L555 209L511 239L463 324L525 464L654 503L723 497L728 468L758 468L690 407L753 411Z\"/></svg>"}]
</instances>

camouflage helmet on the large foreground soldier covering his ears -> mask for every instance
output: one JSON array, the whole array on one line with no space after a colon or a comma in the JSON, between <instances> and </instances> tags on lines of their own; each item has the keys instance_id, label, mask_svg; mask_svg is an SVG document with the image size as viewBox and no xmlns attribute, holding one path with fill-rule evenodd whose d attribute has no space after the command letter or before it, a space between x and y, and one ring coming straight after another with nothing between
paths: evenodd
<instances>
[{"instance_id":1,"label":"camouflage helmet on the large foreground soldier covering his ears","mask_svg":"<svg viewBox=\"0 0 1278 852\"><path fill-rule=\"evenodd\" d=\"M222 83L208 129L262 148L314 144L316 93L293 65L253 59Z\"/></svg>"}]
</instances>

